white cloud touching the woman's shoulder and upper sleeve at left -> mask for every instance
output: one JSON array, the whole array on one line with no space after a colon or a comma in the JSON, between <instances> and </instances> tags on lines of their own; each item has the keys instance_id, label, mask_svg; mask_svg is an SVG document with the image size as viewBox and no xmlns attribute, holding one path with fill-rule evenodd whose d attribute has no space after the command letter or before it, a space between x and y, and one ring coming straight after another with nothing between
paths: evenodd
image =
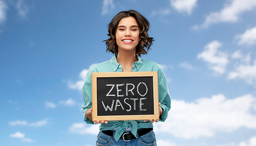
<instances>
[{"instance_id":1,"label":"white cloud touching the woman's shoulder and upper sleeve at left","mask_svg":"<svg viewBox=\"0 0 256 146\"><path fill-rule=\"evenodd\" d=\"M92 66L94 66L94 64L92 64L89 68L91 68ZM75 83L69 81L67 82L67 86L69 86L70 89L78 89L79 91L81 91L81 89L83 88L83 84L85 83L85 77L88 71L89 69L83 69L83 71L81 71L79 74L80 80Z\"/></svg>"}]
</instances>

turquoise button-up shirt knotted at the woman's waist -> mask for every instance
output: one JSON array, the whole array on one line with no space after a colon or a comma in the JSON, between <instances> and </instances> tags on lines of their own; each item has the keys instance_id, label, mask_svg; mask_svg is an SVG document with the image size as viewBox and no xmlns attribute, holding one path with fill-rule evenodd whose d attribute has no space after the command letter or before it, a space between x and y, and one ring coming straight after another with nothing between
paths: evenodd
<instances>
[{"instance_id":1,"label":"turquoise button-up shirt knotted at the woman's waist","mask_svg":"<svg viewBox=\"0 0 256 146\"><path fill-rule=\"evenodd\" d=\"M91 87L91 73L92 72L122 72L121 64L116 61L117 54L113 55L111 60L105 61L103 63L96 64L92 66L85 78L85 84L82 88L83 94L83 115L86 123L94 124L89 120L85 113L92 107L92 87ZM167 118L168 111L171 108L171 99L167 86L167 79L165 78L164 71L159 64L154 63L148 60L142 60L140 57L137 57L138 61L135 62L132 66L132 72L145 72L145 71L157 71L158 72L158 90L159 90L159 102L161 103L160 107L164 110L164 114L160 116L159 121L164 122ZM121 134L124 133L126 128L130 128L132 134L137 137L138 128L153 128L153 124L147 120L146 122L140 120L118 120L118 121L108 121L108 123L101 123L100 130L113 130L116 128L115 140L118 141Z\"/></svg>"}]
</instances>

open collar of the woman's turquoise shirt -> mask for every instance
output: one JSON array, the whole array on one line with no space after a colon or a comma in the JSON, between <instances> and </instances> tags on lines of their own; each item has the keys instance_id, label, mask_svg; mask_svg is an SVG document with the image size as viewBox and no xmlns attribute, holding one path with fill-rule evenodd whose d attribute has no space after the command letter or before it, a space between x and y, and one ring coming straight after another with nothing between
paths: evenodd
<instances>
[{"instance_id":1,"label":"open collar of the woman's turquoise shirt","mask_svg":"<svg viewBox=\"0 0 256 146\"><path fill-rule=\"evenodd\" d=\"M111 68L113 69L113 72L116 72L118 70L119 66L121 66L121 64L119 64L118 61L116 61L117 56L118 56L118 54L114 54L110 60ZM137 54L136 54L136 57L137 57L138 61L135 62L134 64L132 64L132 66L133 66L133 69L135 68L135 70L138 71L138 69L140 69L140 66L142 65L142 60L140 57L138 57Z\"/></svg>"}]
</instances>

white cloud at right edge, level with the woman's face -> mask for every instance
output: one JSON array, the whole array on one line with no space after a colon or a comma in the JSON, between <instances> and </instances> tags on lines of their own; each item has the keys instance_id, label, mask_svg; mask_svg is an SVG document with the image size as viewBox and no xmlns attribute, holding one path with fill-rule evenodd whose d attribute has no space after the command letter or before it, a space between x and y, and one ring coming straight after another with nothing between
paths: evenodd
<instances>
[{"instance_id":1,"label":"white cloud at right edge, level with the woman's face","mask_svg":"<svg viewBox=\"0 0 256 146\"><path fill-rule=\"evenodd\" d=\"M246 32L244 32L241 35L237 35L236 38L239 38L238 44L247 44L247 45L253 45L256 44L256 27L252 29L247 29Z\"/></svg>"}]
</instances>

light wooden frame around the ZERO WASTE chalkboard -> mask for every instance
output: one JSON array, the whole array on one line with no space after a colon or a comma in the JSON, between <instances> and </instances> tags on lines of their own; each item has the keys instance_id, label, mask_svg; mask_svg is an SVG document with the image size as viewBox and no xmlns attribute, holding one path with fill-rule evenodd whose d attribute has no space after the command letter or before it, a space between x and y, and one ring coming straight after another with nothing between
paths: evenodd
<instances>
[{"instance_id":1,"label":"light wooden frame around the ZERO WASTE chalkboard","mask_svg":"<svg viewBox=\"0 0 256 146\"><path fill-rule=\"evenodd\" d=\"M97 115L97 78L99 77L152 77L154 114L98 116ZM159 119L158 76L157 71L151 72L92 72L92 120L149 120Z\"/></svg>"}]
</instances>

